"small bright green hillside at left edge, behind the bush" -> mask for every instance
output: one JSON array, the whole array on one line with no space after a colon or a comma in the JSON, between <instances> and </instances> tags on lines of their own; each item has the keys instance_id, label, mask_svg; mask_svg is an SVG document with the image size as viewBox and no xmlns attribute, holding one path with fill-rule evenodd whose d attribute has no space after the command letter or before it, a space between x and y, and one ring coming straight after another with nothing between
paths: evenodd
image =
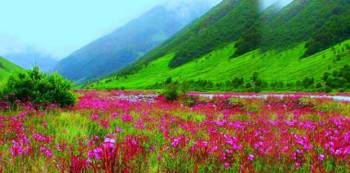
<instances>
[{"instance_id":1,"label":"small bright green hillside at left edge, behind the bush","mask_svg":"<svg viewBox=\"0 0 350 173\"><path fill-rule=\"evenodd\" d=\"M0 88L12 73L20 72L21 70L23 70L21 67L0 57Z\"/></svg>"}]
</instances>

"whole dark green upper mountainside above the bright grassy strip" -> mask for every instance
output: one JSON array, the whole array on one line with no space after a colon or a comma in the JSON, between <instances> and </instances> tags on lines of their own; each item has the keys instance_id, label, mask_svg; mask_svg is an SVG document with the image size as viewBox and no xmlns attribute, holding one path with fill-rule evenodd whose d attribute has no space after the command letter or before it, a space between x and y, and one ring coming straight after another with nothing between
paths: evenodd
<instances>
[{"instance_id":1,"label":"whole dark green upper mountainside above the bright grassy strip","mask_svg":"<svg viewBox=\"0 0 350 173\"><path fill-rule=\"evenodd\" d=\"M290 49L301 43L310 56L350 38L350 1L294 0L260 11L258 0L224 0L202 18L117 75L137 73L144 65L173 53L177 68L236 42L234 57L256 49Z\"/></svg>"}]
</instances>

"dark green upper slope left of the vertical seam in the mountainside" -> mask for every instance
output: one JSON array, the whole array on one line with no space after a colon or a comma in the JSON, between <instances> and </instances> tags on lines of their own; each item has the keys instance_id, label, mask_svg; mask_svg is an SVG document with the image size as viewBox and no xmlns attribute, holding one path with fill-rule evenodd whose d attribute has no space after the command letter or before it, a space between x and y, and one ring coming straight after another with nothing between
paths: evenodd
<instances>
[{"instance_id":1,"label":"dark green upper slope left of the vertical seam in the mountainside","mask_svg":"<svg viewBox=\"0 0 350 173\"><path fill-rule=\"evenodd\" d=\"M239 38L246 28L255 22L258 8L257 0L224 0L192 25L122 72L133 72L170 52L176 52L169 64L173 67L198 58Z\"/></svg>"}]
</instances>

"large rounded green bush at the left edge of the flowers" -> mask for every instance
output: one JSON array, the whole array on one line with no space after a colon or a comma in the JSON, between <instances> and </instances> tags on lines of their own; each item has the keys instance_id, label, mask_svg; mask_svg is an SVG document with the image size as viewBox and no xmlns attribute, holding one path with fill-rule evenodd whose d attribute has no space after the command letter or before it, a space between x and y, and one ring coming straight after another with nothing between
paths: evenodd
<instances>
[{"instance_id":1,"label":"large rounded green bush at the left edge of the flowers","mask_svg":"<svg viewBox=\"0 0 350 173\"><path fill-rule=\"evenodd\" d=\"M72 83L58 73L45 74L38 67L10 76L2 98L14 105L16 101L46 107L57 104L60 107L74 105Z\"/></svg>"}]
</instances>

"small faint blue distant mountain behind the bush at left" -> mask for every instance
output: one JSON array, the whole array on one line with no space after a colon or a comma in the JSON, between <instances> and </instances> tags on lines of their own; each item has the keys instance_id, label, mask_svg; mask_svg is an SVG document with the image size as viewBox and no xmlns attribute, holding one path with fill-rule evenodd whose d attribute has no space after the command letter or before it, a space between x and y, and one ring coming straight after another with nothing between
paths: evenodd
<instances>
[{"instance_id":1,"label":"small faint blue distant mountain behind the bush at left","mask_svg":"<svg viewBox=\"0 0 350 173\"><path fill-rule=\"evenodd\" d=\"M45 72L52 71L57 63L57 60L51 56L32 49L27 49L18 53L6 54L5 57L22 68L31 69L33 66L37 65Z\"/></svg>"}]
</instances>

